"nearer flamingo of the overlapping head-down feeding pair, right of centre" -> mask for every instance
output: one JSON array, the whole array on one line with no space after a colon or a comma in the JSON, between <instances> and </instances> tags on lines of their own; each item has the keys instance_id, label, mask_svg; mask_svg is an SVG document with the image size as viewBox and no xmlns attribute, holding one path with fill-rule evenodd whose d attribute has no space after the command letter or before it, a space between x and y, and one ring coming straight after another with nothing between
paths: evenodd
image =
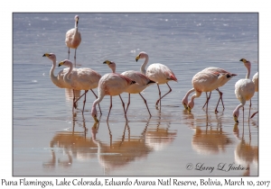
<instances>
[{"instance_id":1,"label":"nearer flamingo of the overlapping head-down feeding pair, right of centre","mask_svg":"<svg viewBox=\"0 0 271 189\"><path fill-rule=\"evenodd\" d=\"M195 76L192 77L192 85L196 93L192 95L191 101L187 103L188 111L191 111L192 108L194 107L194 98L200 97L202 92L211 92L215 89L218 90L218 87L220 87L221 85L225 85L232 78L232 76L236 76L236 74L230 74L229 72L220 73L220 72L206 71L206 70L203 71L203 70L198 72ZM193 91L191 89L184 97L187 98L188 94L192 92ZM220 94L220 99L221 97L222 96ZM207 102L206 102L207 104L209 102L209 98L207 98ZM182 103L183 103L183 100L182 100ZM220 103L220 100L217 104L215 112L218 112L217 108L218 108L219 103Z\"/></svg>"}]
</instances>

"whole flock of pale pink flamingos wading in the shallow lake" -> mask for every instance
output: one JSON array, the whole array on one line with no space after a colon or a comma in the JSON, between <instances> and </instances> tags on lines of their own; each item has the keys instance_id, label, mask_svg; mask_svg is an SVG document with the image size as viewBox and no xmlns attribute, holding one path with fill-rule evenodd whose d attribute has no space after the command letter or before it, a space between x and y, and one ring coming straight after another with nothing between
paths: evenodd
<instances>
[{"instance_id":1,"label":"whole flock of pale pink flamingos wading in the shallow lake","mask_svg":"<svg viewBox=\"0 0 271 189\"><path fill-rule=\"evenodd\" d=\"M97 71L89 68L89 67L76 67L76 51L81 42L81 34L78 29L79 16L75 16L75 27L67 31L65 44L68 47L68 59L64 59L59 62L59 67L66 66L66 68L62 69L57 76L54 75L54 69L56 67L56 56L53 53L44 53L43 57L47 57L52 61L52 67L50 71L51 81L54 85L57 85L60 88L68 88L73 90L84 90L85 93L82 94L85 96L84 104L82 112L85 110L86 103L86 94L90 90L96 97L96 100L92 103L91 115L94 121L98 122L98 112L96 106L98 104L100 115L102 111L100 109L99 103L103 100L106 95L110 96L110 105L109 112L107 115L107 121L109 118L109 114L112 108L112 96L118 95L122 102L124 115L126 118L126 112L128 111L128 107L130 105L130 94L139 94L146 106L146 109L151 117L152 114L149 110L148 104L145 100L145 97L141 94L148 86L157 85L159 98L155 103L155 107L161 107L162 99L167 94L170 94L173 89L169 85L170 81L178 82L177 77L174 75L172 69L165 66L161 63L153 63L149 65L147 68L146 65L149 61L149 56L145 51L141 51L136 57L135 61L139 61L139 59L144 59L140 67L140 71L135 70L127 70L121 74L116 73L116 63L114 61L105 60L103 63L107 64L107 66L112 70L111 73L107 73L104 76L101 76ZM74 52L74 65L70 61L70 49L75 49ZM253 116L257 113L253 113L250 117L250 108L251 108L251 98L254 96L255 92L258 92L258 73L253 76L253 79L250 79L250 69L251 63L245 58L241 58L239 61L243 62L244 66L247 67L248 72L245 78L239 79L235 85L235 94L239 101L238 106L235 110L233 110L232 116L235 122L238 122L239 117L239 109L243 109L243 121L244 121L244 106L247 101L250 101L249 105L249 115L248 119L253 118ZM225 109L222 92L220 91L220 87L226 85L230 79L232 79L237 74L232 74L229 71L220 68L220 67L206 67L205 69L199 71L194 76L192 76L192 88L183 96L182 105L184 109L191 112L195 106L195 99L201 96L202 92L206 94L206 102L204 103L202 109L206 105L206 111L208 111L208 103L210 101L210 94L212 91L216 90L220 94L220 99L217 103L215 112L218 111L219 103L222 103L223 110ZM169 88L169 91L164 95L161 94L160 85L166 84ZM98 89L98 95L95 94L93 89ZM194 92L194 94L192 94ZM208 92L210 93L208 95ZM127 93L128 94L128 103L125 107L125 103L120 94ZM189 101L189 95L192 94L192 97ZM80 98L79 97L79 98ZM79 100L79 99L78 99ZM77 100L77 101L78 101ZM75 95L73 97L73 109L76 108Z\"/></svg>"}]
</instances>

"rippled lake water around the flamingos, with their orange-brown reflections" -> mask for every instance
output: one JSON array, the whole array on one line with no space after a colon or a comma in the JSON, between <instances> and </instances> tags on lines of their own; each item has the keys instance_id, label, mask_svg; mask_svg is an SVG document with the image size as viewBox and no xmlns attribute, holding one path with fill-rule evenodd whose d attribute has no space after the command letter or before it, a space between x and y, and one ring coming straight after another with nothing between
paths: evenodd
<instances>
[{"instance_id":1,"label":"rippled lake water around the flamingos, with their orange-brown reflections","mask_svg":"<svg viewBox=\"0 0 271 189\"><path fill-rule=\"evenodd\" d=\"M155 108L156 85L142 93L150 119L142 98L131 94L128 121L113 97L107 123L106 96L98 125L90 115L93 94L87 95L83 114L82 101L72 114L72 93L51 83L51 60L42 57L45 52L55 53L57 62L68 57L64 37L74 15L13 14L13 175L258 175L258 115L248 122L247 103L245 122L240 118L235 125L232 118L239 103L234 85L247 72L238 60L251 61L252 76L258 69L257 14L79 14L80 67L104 75L110 70L102 62L109 59L119 73L139 70L143 60L135 62L135 56L145 51L150 63L163 63L178 79L169 82L173 91L161 110ZM70 53L73 61L74 49ZM214 91L208 112L202 109L205 94L187 112L182 97L205 67L238 74L220 87L225 110L220 105L214 112L219 99ZM160 88L162 94L168 91L167 85ZM122 94L126 103L127 96ZM257 104L256 93L251 112ZM230 164L249 170L217 169Z\"/></svg>"}]
</instances>

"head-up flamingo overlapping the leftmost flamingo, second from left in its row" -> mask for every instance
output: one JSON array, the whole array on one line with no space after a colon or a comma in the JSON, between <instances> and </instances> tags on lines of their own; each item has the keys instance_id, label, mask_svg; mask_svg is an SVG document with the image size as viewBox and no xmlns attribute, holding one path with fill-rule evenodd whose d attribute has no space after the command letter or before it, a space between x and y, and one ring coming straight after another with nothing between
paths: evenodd
<instances>
[{"instance_id":1,"label":"head-up flamingo overlapping the leftmost flamingo, second from left in its row","mask_svg":"<svg viewBox=\"0 0 271 189\"><path fill-rule=\"evenodd\" d=\"M74 90L85 90L85 100L84 100L84 105L83 105L83 111L85 109L85 103L86 103L86 95L88 91L90 90L96 98L98 96L94 93L92 89L98 87L98 81L100 79L100 75L98 72L94 71L93 69L90 69L89 67L81 67L77 69L73 69L73 65L70 62L69 59L65 59L59 63L59 67L62 65L70 67L69 71L65 73L63 79L64 81L70 85L71 89ZM74 70L74 72L72 72ZM71 74L72 73L72 74ZM75 101L75 95L73 95L73 102ZM99 107L100 111L100 107ZM101 111L100 111L101 112Z\"/></svg>"}]
</instances>

